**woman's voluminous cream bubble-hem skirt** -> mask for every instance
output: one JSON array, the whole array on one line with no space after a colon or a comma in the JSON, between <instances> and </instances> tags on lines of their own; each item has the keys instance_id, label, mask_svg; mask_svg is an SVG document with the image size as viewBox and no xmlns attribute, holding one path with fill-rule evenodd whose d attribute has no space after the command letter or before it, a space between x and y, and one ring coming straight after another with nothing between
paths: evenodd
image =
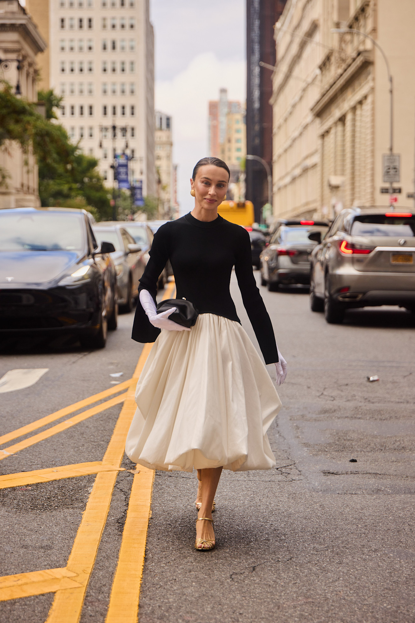
<instances>
[{"instance_id":1,"label":"woman's voluminous cream bubble-hem skirt","mask_svg":"<svg viewBox=\"0 0 415 623\"><path fill-rule=\"evenodd\" d=\"M266 434L281 408L238 322L210 313L190 331L162 330L136 389L126 454L157 470L269 469Z\"/></svg>"}]
</instances>

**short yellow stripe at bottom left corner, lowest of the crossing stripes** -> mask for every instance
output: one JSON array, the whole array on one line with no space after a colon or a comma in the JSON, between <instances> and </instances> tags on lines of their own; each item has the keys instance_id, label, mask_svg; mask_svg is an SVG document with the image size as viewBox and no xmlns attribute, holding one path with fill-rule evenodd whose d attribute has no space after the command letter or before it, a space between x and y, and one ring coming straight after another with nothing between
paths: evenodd
<instances>
[{"instance_id":1,"label":"short yellow stripe at bottom left corner, lowest of the crossing stripes","mask_svg":"<svg viewBox=\"0 0 415 623\"><path fill-rule=\"evenodd\" d=\"M17 573L0 578L0 601L19 599L59 589L80 586L76 574L68 569L45 569L30 573Z\"/></svg>"}]
</instances>

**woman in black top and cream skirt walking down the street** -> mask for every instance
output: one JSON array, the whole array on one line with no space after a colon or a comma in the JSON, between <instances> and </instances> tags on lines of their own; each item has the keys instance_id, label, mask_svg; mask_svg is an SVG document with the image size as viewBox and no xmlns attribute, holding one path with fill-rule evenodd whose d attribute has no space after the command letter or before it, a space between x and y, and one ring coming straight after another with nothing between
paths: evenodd
<instances>
[{"instance_id":1,"label":"woman in black top and cream skirt walking down the street","mask_svg":"<svg viewBox=\"0 0 415 623\"><path fill-rule=\"evenodd\" d=\"M243 304L277 384L287 365L254 280L248 232L218 216L230 179L218 158L198 161L195 207L159 228L139 288L133 339L152 342L136 389L126 453L157 470L197 469L195 547L213 549L212 510L222 469L265 470L275 458L266 431L281 407L268 371L241 327L230 295L235 266ZM157 280L170 259L177 299L198 310L192 328L156 310Z\"/></svg>"}]
</instances>

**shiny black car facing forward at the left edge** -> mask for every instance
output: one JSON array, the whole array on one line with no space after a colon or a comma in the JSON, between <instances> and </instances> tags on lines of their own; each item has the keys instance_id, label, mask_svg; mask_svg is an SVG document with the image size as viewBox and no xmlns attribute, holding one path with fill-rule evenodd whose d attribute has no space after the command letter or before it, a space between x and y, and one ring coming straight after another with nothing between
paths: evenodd
<instances>
[{"instance_id":1,"label":"shiny black car facing forward at the left edge","mask_svg":"<svg viewBox=\"0 0 415 623\"><path fill-rule=\"evenodd\" d=\"M0 210L0 332L65 330L103 348L117 326L113 251L85 210Z\"/></svg>"}]
</instances>

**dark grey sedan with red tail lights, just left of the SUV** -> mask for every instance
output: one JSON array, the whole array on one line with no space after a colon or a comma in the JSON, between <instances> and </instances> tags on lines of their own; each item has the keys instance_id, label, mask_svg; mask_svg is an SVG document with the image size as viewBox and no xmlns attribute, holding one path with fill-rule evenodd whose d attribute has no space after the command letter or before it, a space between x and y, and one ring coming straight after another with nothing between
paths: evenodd
<instances>
[{"instance_id":1,"label":"dark grey sedan with red tail lights, just left of the SUV","mask_svg":"<svg viewBox=\"0 0 415 623\"><path fill-rule=\"evenodd\" d=\"M324 235L329 225L324 221L279 221L269 245L261 253L261 284L274 292L280 285L310 283L310 254L317 242L311 232Z\"/></svg>"}]
</instances>

